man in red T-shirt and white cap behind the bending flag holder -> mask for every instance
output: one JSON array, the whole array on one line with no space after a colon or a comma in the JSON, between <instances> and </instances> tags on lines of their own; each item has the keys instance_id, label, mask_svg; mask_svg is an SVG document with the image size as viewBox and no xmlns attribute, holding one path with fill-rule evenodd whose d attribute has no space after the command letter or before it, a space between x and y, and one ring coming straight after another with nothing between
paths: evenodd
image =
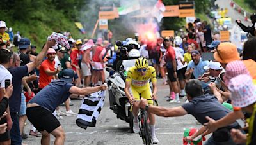
<instances>
[{"instance_id":1,"label":"man in red T-shirt and white cap behind the bending flag holder","mask_svg":"<svg viewBox=\"0 0 256 145\"><path fill-rule=\"evenodd\" d=\"M60 68L57 68L55 70L55 67L54 67L55 55L56 55L55 50L53 48L49 48L46 53L47 59L45 59L40 66L38 92L42 90L42 88L47 86L49 83L51 83L52 79L54 79L54 75L60 72Z\"/></svg>"}]
</instances>

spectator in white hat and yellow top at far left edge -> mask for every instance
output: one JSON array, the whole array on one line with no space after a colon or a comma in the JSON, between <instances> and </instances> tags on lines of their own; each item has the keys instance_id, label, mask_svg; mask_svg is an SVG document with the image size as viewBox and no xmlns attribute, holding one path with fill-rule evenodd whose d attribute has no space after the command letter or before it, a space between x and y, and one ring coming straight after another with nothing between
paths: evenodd
<instances>
[{"instance_id":1,"label":"spectator in white hat and yellow top at far left edge","mask_svg":"<svg viewBox=\"0 0 256 145\"><path fill-rule=\"evenodd\" d=\"M6 27L6 23L4 21L0 21L0 46L1 48L7 48L11 44L10 36L5 31L8 30Z\"/></svg>"}]
</instances>

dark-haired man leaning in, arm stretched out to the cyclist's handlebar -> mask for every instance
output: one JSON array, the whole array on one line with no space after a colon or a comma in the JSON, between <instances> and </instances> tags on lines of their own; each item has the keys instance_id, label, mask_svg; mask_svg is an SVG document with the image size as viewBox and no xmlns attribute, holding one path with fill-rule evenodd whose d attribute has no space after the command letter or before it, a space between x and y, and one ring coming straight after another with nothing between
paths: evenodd
<instances>
[{"instance_id":1,"label":"dark-haired man leaning in, arm stretched out to the cyclist's handlebar","mask_svg":"<svg viewBox=\"0 0 256 145\"><path fill-rule=\"evenodd\" d=\"M140 107L145 108L148 113L153 113L164 117L184 116L186 114L191 114L202 125L207 122L205 116L211 116L211 118L215 118L214 120L220 120L220 118L223 118L230 113L230 110L226 109L218 101L222 100L220 96L215 97L214 95L209 95L208 93L204 95L201 83L197 79L191 79L188 81L185 86L185 91L187 93L189 102L183 104L182 106L173 108L148 106L147 100L141 98ZM205 144L235 144L229 135L231 128L238 128L237 123L233 123L227 127L216 130ZM206 130L207 129L205 127L202 127L200 130L198 130L198 132L196 132L196 134L207 134L207 132L205 132Z\"/></svg>"}]
</instances>

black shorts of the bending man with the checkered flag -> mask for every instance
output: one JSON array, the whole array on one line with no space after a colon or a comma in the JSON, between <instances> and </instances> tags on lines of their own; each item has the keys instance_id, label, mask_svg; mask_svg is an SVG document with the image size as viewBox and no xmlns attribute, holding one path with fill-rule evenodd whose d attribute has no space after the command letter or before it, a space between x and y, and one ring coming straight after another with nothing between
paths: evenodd
<instances>
[{"instance_id":1,"label":"black shorts of the bending man with the checkered flag","mask_svg":"<svg viewBox=\"0 0 256 145\"><path fill-rule=\"evenodd\" d=\"M60 122L52 112L41 106L28 107L26 113L28 120L40 132L46 130L48 133L51 133L56 128L60 127Z\"/></svg>"}]
</instances>

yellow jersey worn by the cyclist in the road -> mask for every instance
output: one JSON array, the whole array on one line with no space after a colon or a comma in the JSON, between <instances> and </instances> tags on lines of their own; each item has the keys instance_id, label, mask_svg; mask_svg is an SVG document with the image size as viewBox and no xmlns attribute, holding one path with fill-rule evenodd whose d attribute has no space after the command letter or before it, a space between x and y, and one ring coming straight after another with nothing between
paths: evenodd
<instances>
[{"instance_id":1,"label":"yellow jersey worn by the cyclist in the road","mask_svg":"<svg viewBox=\"0 0 256 145\"><path fill-rule=\"evenodd\" d=\"M149 81L152 83L156 83L156 70L152 66L148 66L147 71L145 72L144 76L140 75L140 72L137 71L137 68L131 67L127 72L126 82L131 82L133 88L148 88Z\"/></svg>"}]
</instances>

